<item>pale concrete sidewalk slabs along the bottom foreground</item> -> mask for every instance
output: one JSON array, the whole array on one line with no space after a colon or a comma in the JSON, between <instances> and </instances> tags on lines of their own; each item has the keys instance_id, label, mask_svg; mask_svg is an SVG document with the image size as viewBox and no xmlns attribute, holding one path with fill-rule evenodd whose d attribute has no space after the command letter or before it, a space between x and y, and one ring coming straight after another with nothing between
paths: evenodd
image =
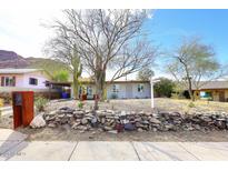
<instances>
[{"instance_id":1,"label":"pale concrete sidewalk slabs along the bottom foreground","mask_svg":"<svg viewBox=\"0 0 228 171\"><path fill-rule=\"evenodd\" d=\"M24 134L0 129L0 160L228 160L228 142L26 141Z\"/></svg>"}]
</instances>

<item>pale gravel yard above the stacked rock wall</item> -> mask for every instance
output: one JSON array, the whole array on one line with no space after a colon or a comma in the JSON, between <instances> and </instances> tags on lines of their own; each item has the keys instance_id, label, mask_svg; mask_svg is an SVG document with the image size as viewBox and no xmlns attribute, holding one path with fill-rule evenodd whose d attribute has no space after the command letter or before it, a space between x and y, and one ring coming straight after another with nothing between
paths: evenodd
<instances>
[{"instance_id":1,"label":"pale gravel yard above the stacked rock wall","mask_svg":"<svg viewBox=\"0 0 228 171\"><path fill-rule=\"evenodd\" d=\"M85 101L86 109L92 109L93 101ZM155 99L155 107L160 111L178 111L178 112L228 112L227 102L215 102L210 101L196 101L194 108L189 107L189 100L176 100L176 99L165 99L157 98ZM77 108L78 101L61 101L61 102L51 102L47 110L56 110L61 107ZM125 111L151 111L151 101L150 99L131 99L131 100L110 100L109 102L100 102L99 109L111 109L111 110L125 110Z\"/></svg>"}]
</instances>

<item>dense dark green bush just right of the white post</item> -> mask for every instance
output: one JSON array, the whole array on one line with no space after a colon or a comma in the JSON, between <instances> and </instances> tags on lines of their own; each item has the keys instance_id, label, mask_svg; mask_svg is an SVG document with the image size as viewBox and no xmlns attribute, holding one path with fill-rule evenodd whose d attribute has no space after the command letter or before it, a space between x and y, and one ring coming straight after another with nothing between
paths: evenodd
<instances>
[{"instance_id":1,"label":"dense dark green bush just right of the white post","mask_svg":"<svg viewBox=\"0 0 228 171\"><path fill-rule=\"evenodd\" d=\"M158 97L170 98L172 91L175 90L175 82L167 78L159 78L159 81L153 84L155 93Z\"/></svg>"}]
</instances>

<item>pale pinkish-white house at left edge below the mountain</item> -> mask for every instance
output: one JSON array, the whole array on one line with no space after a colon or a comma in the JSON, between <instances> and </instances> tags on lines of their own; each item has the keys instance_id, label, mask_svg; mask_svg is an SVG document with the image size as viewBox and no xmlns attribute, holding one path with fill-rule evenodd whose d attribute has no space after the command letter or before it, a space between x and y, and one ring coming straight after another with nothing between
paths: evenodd
<instances>
[{"instance_id":1,"label":"pale pinkish-white house at left edge below the mountain","mask_svg":"<svg viewBox=\"0 0 228 171\"><path fill-rule=\"evenodd\" d=\"M0 69L0 91L46 91L49 78L40 69Z\"/></svg>"}]
</instances>

